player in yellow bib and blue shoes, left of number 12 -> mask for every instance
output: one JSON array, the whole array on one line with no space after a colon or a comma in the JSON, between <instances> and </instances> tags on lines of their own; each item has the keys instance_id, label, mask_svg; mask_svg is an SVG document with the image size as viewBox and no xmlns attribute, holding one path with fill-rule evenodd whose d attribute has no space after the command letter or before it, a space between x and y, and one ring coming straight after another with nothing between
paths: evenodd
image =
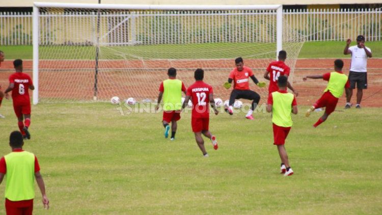
<instances>
[{"instance_id":1,"label":"player in yellow bib and blue shoes, left of number 12","mask_svg":"<svg viewBox=\"0 0 382 215\"><path fill-rule=\"evenodd\" d=\"M177 121L180 119L180 109L182 107L182 92L186 94L186 86L181 80L176 79L175 68L170 68L167 75L169 79L160 83L158 104L155 109L158 110L163 97L162 124L165 127L165 138L169 137L169 124L171 122L171 140L175 140Z\"/></svg>"}]
</instances>

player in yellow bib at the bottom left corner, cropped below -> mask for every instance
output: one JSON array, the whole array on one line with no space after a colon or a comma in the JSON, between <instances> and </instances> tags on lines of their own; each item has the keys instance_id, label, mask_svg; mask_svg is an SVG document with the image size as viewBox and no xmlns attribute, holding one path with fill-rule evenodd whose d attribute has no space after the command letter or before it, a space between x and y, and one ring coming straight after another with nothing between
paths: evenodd
<instances>
[{"instance_id":1,"label":"player in yellow bib at the bottom left corner, cropped below","mask_svg":"<svg viewBox=\"0 0 382 215\"><path fill-rule=\"evenodd\" d=\"M12 152L0 159L0 183L6 177L5 209L7 214L32 214L35 198L35 183L40 188L44 208L49 208L49 199L45 194L45 183L40 173L36 156L22 150L24 142L18 131L11 133L9 145Z\"/></svg>"}]
</instances>

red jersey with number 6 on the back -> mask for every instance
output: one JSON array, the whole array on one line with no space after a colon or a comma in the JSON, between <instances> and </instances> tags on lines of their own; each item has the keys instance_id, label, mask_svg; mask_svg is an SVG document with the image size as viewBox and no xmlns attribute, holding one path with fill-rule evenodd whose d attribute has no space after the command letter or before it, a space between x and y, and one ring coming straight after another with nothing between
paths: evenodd
<instances>
[{"instance_id":1,"label":"red jersey with number 6 on the back","mask_svg":"<svg viewBox=\"0 0 382 215\"><path fill-rule=\"evenodd\" d=\"M9 83L14 83L12 89L13 102L30 103L29 86L33 85L32 79L28 74L16 72L9 76Z\"/></svg>"}]
</instances>

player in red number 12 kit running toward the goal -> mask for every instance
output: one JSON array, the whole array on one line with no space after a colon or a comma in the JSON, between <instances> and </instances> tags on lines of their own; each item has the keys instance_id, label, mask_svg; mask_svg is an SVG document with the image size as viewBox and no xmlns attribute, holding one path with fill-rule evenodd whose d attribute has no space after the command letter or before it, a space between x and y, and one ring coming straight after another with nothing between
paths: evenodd
<instances>
[{"instance_id":1,"label":"player in red number 12 kit running toward the goal","mask_svg":"<svg viewBox=\"0 0 382 215\"><path fill-rule=\"evenodd\" d=\"M213 100L212 86L203 82L204 70L197 69L194 73L195 83L187 88L186 98L183 102L182 109L188 104L191 98L193 102L193 112L191 114L191 127L195 133L195 140L198 143L200 150L203 152L204 157L208 157L208 153L204 147L204 140L202 134L212 141L213 148L217 149L217 140L214 135L208 130L209 126L209 107L208 103L213 108L215 115L219 113L216 109ZM208 102L209 101L209 102Z\"/></svg>"}]
</instances>

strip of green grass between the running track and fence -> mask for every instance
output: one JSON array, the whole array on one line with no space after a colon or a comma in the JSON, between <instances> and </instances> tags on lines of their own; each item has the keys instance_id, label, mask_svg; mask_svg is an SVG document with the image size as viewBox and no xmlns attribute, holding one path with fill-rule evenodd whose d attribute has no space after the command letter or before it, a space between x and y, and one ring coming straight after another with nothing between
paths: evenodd
<instances>
[{"instance_id":1,"label":"strip of green grass between the running track and fence","mask_svg":"<svg viewBox=\"0 0 382 215\"><path fill-rule=\"evenodd\" d=\"M352 42L351 45L356 45ZM232 44L188 44L188 45L152 45L152 46L123 46L101 47L101 58L108 59L137 59L137 56L147 58L167 59L173 58L177 53L177 58L232 58L232 56L251 56L254 51L263 49L269 50L275 44L259 45L255 43L232 43ZM382 57L382 42L366 42L366 46L371 48L373 57ZM349 58L350 55L343 55L345 42L326 41L326 42L305 42L299 58ZM73 48L73 47L72 47ZM319 52L317 50L320 50ZM32 59L32 46L2 46L0 50L6 53L7 59ZM49 59L94 59L94 47L75 47L75 52L68 51L67 47L56 46L41 47ZM245 51L245 52L244 52ZM132 54L133 53L133 54ZM270 56L266 54L265 56ZM264 55L256 55L254 58L264 58Z\"/></svg>"}]
</instances>

